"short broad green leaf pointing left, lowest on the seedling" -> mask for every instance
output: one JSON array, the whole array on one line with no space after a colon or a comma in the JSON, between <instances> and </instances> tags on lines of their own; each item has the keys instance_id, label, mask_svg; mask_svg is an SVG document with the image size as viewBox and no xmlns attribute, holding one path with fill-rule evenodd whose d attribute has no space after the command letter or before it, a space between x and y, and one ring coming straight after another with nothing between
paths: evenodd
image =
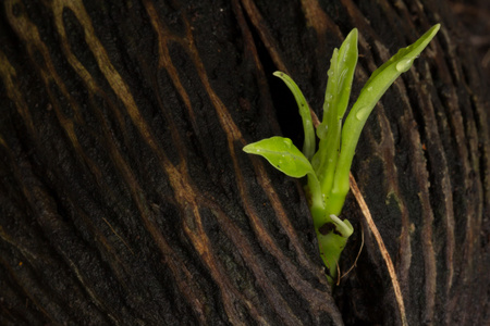
<instances>
[{"instance_id":1,"label":"short broad green leaf pointing left, lowest on the seedling","mask_svg":"<svg viewBox=\"0 0 490 326\"><path fill-rule=\"evenodd\" d=\"M272 166L291 177L301 178L313 173L308 159L289 138L275 136L262 139L245 146L243 150L264 156Z\"/></svg>"}]
</instances>

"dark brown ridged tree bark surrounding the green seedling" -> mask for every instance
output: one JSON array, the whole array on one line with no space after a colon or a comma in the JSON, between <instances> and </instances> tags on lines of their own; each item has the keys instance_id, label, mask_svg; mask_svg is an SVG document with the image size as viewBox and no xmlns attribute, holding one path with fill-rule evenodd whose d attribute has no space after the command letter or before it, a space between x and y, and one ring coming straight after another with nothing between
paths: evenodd
<instances>
[{"instance_id":1,"label":"dark brown ridged tree bark surrounding the green seedling","mask_svg":"<svg viewBox=\"0 0 490 326\"><path fill-rule=\"evenodd\" d=\"M483 325L488 85L445 1L63 1L0 7L0 324ZM299 181L242 152L301 143L334 47L359 29L354 97L436 23L382 98L353 173L334 288Z\"/></svg>"}]
</instances>

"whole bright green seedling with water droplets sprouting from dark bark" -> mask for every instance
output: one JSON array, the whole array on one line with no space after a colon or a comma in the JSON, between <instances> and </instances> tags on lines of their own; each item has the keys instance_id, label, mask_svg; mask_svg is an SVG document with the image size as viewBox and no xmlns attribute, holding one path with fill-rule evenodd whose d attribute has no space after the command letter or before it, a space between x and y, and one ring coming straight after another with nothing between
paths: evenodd
<instances>
[{"instance_id":1,"label":"whole bright green seedling with water droplets sprouting from dark bark","mask_svg":"<svg viewBox=\"0 0 490 326\"><path fill-rule=\"evenodd\" d=\"M381 96L402 73L411 68L439 28L440 24L434 25L415 43L401 49L377 68L343 122L358 57L357 29L354 28L341 48L333 50L328 71L323 117L316 133L308 103L296 83L284 73L274 73L293 92L299 108L305 134L303 152L291 139L283 137L262 139L245 146L243 150L266 158L289 176L307 177L305 190L330 284L338 277L340 254L354 231L351 223L339 216L350 190L348 174L363 127ZM315 134L319 138L316 152Z\"/></svg>"}]
</instances>

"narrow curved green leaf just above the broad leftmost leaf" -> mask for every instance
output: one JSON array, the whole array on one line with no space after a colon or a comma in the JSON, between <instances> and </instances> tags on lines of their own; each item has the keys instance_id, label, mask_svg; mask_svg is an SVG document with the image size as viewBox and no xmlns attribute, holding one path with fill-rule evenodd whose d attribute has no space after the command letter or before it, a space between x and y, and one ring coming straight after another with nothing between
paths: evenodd
<instances>
[{"instance_id":1,"label":"narrow curved green leaf just above the broad leftmost leaf","mask_svg":"<svg viewBox=\"0 0 490 326\"><path fill-rule=\"evenodd\" d=\"M311 160L315 154L315 129L311 122L311 113L309 112L308 102L306 102L305 96L301 91L299 87L297 87L296 83L282 72L273 73L275 77L279 77L284 82L284 84L290 88L291 92L296 100L297 108L299 109L299 115L303 120L303 130L305 133L305 141L303 143L303 153L308 160Z\"/></svg>"}]
</instances>

